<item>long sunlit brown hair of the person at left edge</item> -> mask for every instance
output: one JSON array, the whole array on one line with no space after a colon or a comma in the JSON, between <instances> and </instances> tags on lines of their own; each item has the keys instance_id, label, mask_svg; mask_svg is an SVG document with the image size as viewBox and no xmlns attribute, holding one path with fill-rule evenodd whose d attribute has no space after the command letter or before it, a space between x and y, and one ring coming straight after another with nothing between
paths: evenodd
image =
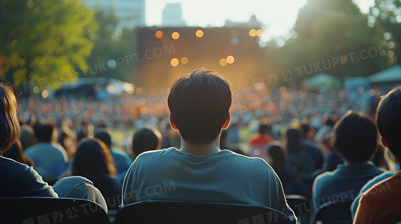
<instances>
[{"instance_id":1,"label":"long sunlit brown hair of the person at left edge","mask_svg":"<svg viewBox=\"0 0 401 224\"><path fill-rule=\"evenodd\" d=\"M0 153L9 149L21 132L17 102L11 87L0 83Z\"/></svg>"}]
</instances>

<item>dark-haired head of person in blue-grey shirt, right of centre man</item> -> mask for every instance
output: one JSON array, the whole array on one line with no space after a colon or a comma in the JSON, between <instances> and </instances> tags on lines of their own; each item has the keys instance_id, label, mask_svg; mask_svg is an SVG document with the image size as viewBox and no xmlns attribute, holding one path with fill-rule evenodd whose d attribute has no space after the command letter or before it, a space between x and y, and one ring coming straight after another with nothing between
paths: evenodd
<instances>
[{"instance_id":1,"label":"dark-haired head of person in blue-grey shirt, right of centre man","mask_svg":"<svg viewBox=\"0 0 401 224\"><path fill-rule=\"evenodd\" d=\"M347 112L334 126L334 148L350 163L368 161L377 147L373 120L361 112Z\"/></svg>"}]
</instances>

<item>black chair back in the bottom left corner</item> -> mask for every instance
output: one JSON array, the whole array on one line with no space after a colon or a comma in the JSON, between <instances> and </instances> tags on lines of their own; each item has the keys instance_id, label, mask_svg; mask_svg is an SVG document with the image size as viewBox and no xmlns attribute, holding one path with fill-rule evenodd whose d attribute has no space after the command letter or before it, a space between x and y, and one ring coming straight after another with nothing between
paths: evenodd
<instances>
[{"instance_id":1,"label":"black chair back in the bottom left corner","mask_svg":"<svg viewBox=\"0 0 401 224\"><path fill-rule=\"evenodd\" d=\"M61 223L110 224L107 213L96 202L52 197L0 198L0 224Z\"/></svg>"}]
</instances>

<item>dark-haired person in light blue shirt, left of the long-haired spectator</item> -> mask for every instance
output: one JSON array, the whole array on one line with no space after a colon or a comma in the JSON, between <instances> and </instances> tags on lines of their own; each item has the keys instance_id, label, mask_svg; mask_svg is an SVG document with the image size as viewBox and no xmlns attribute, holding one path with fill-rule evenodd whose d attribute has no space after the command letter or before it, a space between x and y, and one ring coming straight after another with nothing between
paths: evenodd
<instances>
[{"instance_id":1,"label":"dark-haired person in light blue shirt, left of the long-haired spectator","mask_svg":"<svg viewBox=\"0 0 401 224\"><path fill-rule=\"evenodd\" d=\"M24 155L31 158L35 164L35 170L50 185L58 180L59 175L67 170L68 154L65 149L53 142L53 124L34 125L33 130L38 139L38 144L25 150Z\"/></svg>"}]
</instances>

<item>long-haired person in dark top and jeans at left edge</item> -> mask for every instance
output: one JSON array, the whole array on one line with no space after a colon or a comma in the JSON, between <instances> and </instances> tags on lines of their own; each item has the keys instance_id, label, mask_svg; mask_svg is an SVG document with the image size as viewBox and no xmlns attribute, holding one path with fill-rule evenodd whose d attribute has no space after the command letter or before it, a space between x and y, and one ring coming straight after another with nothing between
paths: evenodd
<instances>
[{"instance_id":1,"label":"long-haired person in dark top and jeans at left edge","mask_svg":"<svg viewBox=\"0 0 401 224\"><path fill-rule=\"evenodd\" d=\"M0 154L9 149L20 134L16 108L13 90L0 83ZM107 211L103 196L88 179L80 176L63 178L53 189L32 167L0 155L0 197L59 196L92 200Z\"/></svg>"}]
</instances>

